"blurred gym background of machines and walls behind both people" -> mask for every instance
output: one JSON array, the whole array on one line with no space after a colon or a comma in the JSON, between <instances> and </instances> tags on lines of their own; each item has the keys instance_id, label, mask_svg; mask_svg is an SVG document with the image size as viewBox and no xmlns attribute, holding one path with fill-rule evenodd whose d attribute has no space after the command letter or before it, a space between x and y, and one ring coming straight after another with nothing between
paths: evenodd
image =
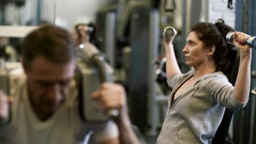
<instances>
[{"instance_id":1,"label":"blurred gym background of machines and walls behind both people","mask_svg":"<svg viewBox=\"0 0 256 144\"><path fill-rule=\"evenodd\" d=\"M182 49L190 26L218 19L236 31L256 35L256 1L0 0L0 56L7 62L19 61L22 37L10 33L25 26L52 23L72 32L78 23L92 23L92 43L106 54L115 82L125 86L132 123L147 143L155 143L171 91L165 77L164 28L172 26L178 32L174 50L185 73L190 68ZM254 50L250 100L245 109L235 111L230 125L228 139L237 144L256 143L255 55Z\"/></svg>"}]
</instances>

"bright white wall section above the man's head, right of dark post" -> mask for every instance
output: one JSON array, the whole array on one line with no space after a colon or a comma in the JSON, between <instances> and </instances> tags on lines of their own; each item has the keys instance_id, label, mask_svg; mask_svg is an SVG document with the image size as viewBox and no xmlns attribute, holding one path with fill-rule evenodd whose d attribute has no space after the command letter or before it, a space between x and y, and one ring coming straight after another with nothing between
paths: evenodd
<instances>
[{"instance_id":1,"label":"bright white wall section above the man's head, right of dark post","mask_svg":"<svg viewBox=\"0 0 256 144\"><path fill-rule=\"evenodd\" d=\"M56 22L71 29L79 17L89 17L95 21L96 11L114 1L109 0L56 0ZM54 20L54 1L44 0L42 3L42 19Z\"/></svg>"}]
</instances>

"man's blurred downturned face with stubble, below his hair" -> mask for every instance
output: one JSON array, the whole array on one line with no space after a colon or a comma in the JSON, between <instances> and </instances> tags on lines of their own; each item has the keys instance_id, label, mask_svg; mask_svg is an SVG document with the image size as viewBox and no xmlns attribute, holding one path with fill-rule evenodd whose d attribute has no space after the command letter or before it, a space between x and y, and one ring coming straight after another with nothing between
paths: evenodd
<instances>
[{"instance_id":1,"label":"man's blurred downturned face with stubble, below his hair","mask_svg":"<svg viewBox=\"0 0 256 144\"><path fill-rule=\"evenodd\" d=\"M69 93L74 68L74 60L55 64L43 56L34 58L29 68L24 67L29 98L36 113L52 115L59 108Z\"/></svg>"}]
</instances>

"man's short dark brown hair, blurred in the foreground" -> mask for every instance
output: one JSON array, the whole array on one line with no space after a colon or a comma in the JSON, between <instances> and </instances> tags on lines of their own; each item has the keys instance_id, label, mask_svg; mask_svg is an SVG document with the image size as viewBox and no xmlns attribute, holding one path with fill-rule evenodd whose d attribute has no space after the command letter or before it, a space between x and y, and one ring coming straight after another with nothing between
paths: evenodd
<instances>
[{"instance_id":1,"label":"man's short dark brown hair, blurred in the foreground","mask_svg":"<svg viewBox=\"0 0 256 144\"><path fill-rule=\"evenodd\" d=\"M68 63L75 58L75 45L71 34L66 29L53 25L45 25L32 31L22 43L25 65L30 66L38 55L57 64Z\"/></svg>"}]
</instances>

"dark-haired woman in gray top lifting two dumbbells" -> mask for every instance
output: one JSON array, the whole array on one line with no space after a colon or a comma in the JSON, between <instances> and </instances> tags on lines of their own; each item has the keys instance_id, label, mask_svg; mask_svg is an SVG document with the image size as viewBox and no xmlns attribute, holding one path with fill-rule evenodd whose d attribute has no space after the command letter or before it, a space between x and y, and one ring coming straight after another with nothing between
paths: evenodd
<instances>
[{"instance_id":1,"label":"dark-haired woman in gray top lifting two dumbbells","mask_svg":"<svg viewBox=\"0 0 256 144\"><path fill-rule=\"evenodd\" d=\"M165 37L167 83L173 90L168 111L156 143L211 143L222 121L225 107L241 109L248 101L252 50L249 35L235 32L234 45L240 50L240 68L235 87L223 74L229 65L232 45L225 36L233 29L222 19L199 22L188 35L183 52L193 70L179 70L172 39Z\"/></svg>"}]
</instances>

